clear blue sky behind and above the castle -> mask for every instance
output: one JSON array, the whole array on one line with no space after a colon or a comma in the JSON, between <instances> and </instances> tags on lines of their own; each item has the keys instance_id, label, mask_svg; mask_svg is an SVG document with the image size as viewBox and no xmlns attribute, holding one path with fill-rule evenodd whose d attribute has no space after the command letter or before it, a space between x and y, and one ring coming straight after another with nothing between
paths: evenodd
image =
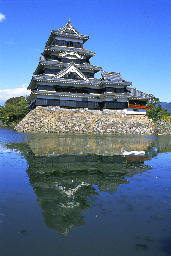
<instances>
[{"instance_id":1,"label":"clear blue sky behind and above the castle","mask_svg":"<svg viewBox=\"0 0 171 256\"><path fill-rule=\"evenodd\" d=\"M168 0L2 0L0 104L29 95L26 87L51 29L69 17L90 35L84 48L96 52L91 64L120 72L132 87L170 102L170 11Z\"/></svg>"}]
</instances>

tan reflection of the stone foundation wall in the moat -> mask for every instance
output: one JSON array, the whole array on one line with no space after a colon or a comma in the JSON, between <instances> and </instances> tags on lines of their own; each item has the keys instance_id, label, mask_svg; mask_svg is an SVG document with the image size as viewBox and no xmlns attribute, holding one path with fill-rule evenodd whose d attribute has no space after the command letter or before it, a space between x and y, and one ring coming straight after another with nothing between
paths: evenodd
<instances>
[{"instance_id":1,"label":"tan reflection of the stone foundation wall in the moat","mask_svg":"<svg viewBox=\"0 0 171 256\"><path fill-rule=\"evenodd\" d=\"M154 140L142 135L31 133L26 143L35 156L89 153L121 155L124 151L144 151Z\"/></svg>"}]
</instances>

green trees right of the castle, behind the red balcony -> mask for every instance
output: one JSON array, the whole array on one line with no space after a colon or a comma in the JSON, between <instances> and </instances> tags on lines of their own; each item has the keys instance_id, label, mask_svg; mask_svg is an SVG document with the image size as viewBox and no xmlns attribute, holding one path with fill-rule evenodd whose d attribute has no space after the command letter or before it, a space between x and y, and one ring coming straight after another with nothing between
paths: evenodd
<instances>
[{"instance_id":1,"label":"green trees right of the castle, behind the red balcony","mask_svg":"<svg viewBox=\"0 0 171 256\"><path fill-rule=\"evenodd\" d=\"M153 94L150 95L154 96ZM168 113L167 109L163 109L160 103L161 101L156 97L146 102L147 106L152 106L151 109L147 109L147 116L153 121L157 121L159 116L171 116L171 113ZM156 105L158 106L156 107Z\"/></svg>"}]
</instances>

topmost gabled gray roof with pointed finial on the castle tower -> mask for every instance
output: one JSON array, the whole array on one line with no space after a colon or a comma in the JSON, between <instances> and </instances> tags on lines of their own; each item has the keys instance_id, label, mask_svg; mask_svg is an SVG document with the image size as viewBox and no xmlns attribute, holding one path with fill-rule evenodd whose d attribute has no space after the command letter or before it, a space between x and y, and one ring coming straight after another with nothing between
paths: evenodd
<instances>
[{"instance_id":1,"label":"topmost gabled gray roof with pointed finial on the castle tower","mask_svg":"<svg viewBox=\"0 0 171 256\"><path fill-rule=\"evenodd\" d=\"M83 42L86 42L89 39L89 36L80 34L71 24L70 18L68 23L58 30L52 30L51 35L46 42L46 45L50 45L54 36L62 36L62 37L71 37L71 38L79 38L83 39Z\"/></svg>"}]
</instances>

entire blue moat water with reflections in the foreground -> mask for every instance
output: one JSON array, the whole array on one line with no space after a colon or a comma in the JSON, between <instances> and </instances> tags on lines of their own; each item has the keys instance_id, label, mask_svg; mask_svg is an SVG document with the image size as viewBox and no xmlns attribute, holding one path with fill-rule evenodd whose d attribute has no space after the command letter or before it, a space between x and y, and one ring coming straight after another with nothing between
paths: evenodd
<instances>
[{"instance_id":1,"label":"entire blue moat water with reflections in the foreground","mask_svg":"<svg viewBox=\"0 0 171 256\"><path fill-rule=\"evenodd\" d=\"M1 127L1 256L171 255L171 137Z\"/></svg>"}]
</instances>

